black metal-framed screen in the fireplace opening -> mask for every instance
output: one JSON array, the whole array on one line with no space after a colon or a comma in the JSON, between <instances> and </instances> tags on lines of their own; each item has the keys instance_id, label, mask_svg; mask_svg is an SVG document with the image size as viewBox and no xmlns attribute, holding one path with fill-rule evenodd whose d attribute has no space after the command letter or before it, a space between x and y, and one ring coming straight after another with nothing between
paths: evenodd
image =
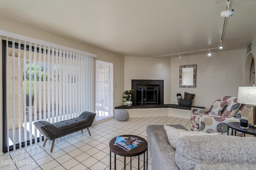
<instances>
[{"instance_id":1,"label":"black metal-framed screen in the fireplace opening","mask_svg":"<svg viewBox=\"0 0 256 170\"><path fill-rule=\"evenodd\" d=\"M159 86L136 86L137 105L158 105Z\"/></svg>"}]
</instances>

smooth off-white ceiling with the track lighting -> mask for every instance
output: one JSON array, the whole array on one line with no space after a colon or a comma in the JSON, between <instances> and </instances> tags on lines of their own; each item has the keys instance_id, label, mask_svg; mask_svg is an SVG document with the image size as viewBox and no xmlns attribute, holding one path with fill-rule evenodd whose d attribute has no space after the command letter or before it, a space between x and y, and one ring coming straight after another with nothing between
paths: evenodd
<instances>
[{"instance_id":1,"label":"smooth off-white ceiling with the track lighting","mask_svg":"<svg viewBox=\"0 0 256 170\"><path fill-rule=\"evenodd\" d=\"M1 17L136 57L217 48L225 9L226 0L0 0ZM256 0L230 0L230 9L222 51L256 37Z\"/></svg>"}]
</instances>

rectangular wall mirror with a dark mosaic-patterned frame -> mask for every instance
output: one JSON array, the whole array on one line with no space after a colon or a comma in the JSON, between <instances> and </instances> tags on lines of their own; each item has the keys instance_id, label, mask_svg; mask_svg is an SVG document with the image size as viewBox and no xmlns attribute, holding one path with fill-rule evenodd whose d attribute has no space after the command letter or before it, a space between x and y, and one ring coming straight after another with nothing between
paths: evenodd
<instances>
[{"instance_id":1,"label":"rectangular wall mirror with a dark mosaic-patterned frame","mask_svg":"<svg viewBox=\"0 0 256 170\"><path fill-rule=\"evenodd\" d=\"M180 66L180 87L196 88L196 64Z\"/></svg>"}]
</instances>

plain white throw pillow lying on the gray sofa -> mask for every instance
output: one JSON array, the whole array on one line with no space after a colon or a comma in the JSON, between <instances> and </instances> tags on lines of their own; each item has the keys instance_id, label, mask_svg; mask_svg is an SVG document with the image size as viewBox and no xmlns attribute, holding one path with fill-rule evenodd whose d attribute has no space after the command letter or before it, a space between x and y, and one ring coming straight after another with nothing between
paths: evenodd
<instances>
[{"instance_id":1,"label":"plain white throw pillow lying on the gray sofa","mask_svg":"<svg viewBox=\"0 0 256 170\"><path fill-rule=\"evenodd\" d=\"M178 145L179 137L195 136L195 135L220 135L221 134L221 133L206 133L206 132L198 132L198 131L185 131L183 129L176 129L174 127L170 127L167 125L164 125L164 129L166 131L168 141L174 149L176 149L176 147Z\"/></svg>"}]
</instances>

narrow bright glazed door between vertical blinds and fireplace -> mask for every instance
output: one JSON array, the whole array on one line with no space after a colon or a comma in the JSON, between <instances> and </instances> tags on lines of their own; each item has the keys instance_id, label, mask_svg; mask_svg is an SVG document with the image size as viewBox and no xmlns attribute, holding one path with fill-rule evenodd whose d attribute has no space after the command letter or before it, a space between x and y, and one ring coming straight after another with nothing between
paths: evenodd
<instances>
[{"instance_id":1,"label":"narrow bright glazed door between vertical blinds and fireplace","mask_svg":"<svg viewBox=\"0 0 256 170\"><path fill-rule=\"evenodd\" d=\"M113 64L96 61L96 121L113 114Z\"/></svg>"}]
</instances>

